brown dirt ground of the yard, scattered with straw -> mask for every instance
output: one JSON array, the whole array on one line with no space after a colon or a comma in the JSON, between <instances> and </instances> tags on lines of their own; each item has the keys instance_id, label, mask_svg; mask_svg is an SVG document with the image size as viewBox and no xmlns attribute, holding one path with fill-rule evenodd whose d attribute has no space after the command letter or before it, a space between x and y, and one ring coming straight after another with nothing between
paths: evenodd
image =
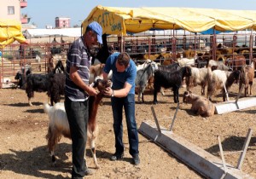
<instances>
[{"instance_id":1,"label":"brown dirt ground of the yard, scattered with straw","mask_svg":"<svg viewBox=\"0 0 256 179\"><path fill-rule=\"evenodd\" d=\"M184 89L180 90L180 101L182 101L183 91ZM196 87L192 91L199 95L200 88ZM231 100L236 97L237 91L238 85L235 84L230 90ZM255 87L253 91L256 94ZM166 90L166 95L159 94L158 99L159 104L154 106L154 110L160 118L160 125L170 128L176 108L172 92ZM220 95L213 98L216 102L221 100ZM71 177L70 140L61 139L55 151L58 157L57 167L51 166L45 140L49 121L43 110L45 101L47 97L44 93L36 93L32 99L34 106L29 107L24 90L0 90L0 178ZM143 120L154 121L150 109L153 105L153 95L146 93L145 101L145 104L136 104L138 128ZM191 113L190 107L191 105L181 102L173 132L218 158L220 158L218 135L223 141L224 153L237 152L243 147L248 129L253 129L253 138L241 170L256 178L256 107L222 115L215 114L210 118L196 116ZM203 178L195 170L181 163L154 142L148 141L141 134L139 134L141 165L131 165L126 127L124 127L125 159L110 161L109 158L114 152L114 136L109 98L103 99L103 106L99 108L97 120L101 130L96 141L96 155L101 168L95 169L87 147L86 159L95 174L86 178ZM236 166L239 155L240 153L225 155L226 162Z\"/></svg>"}]
</instances>

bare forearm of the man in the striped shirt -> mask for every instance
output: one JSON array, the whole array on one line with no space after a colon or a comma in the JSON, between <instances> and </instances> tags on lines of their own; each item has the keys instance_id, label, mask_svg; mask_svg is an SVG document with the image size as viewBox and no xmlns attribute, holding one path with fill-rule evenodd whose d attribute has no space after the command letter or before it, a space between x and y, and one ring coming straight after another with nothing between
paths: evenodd
<instances>
[{"instance_id":1,"label":"bare forearm of the man in the striped shirt","mask_svg":"<svg viewBox=\"0 0 256 179\"><path fill-rule=\"evenodd\" d=\"M77 84L81 89L85 90L86 93L88 93L88 95L97 95L96 90L94 88L90 87L87 84L84 84L84 81L79 76L77 66L70 67L69 77L71 78L74 84Z\"/></svg>"}]
</instances>

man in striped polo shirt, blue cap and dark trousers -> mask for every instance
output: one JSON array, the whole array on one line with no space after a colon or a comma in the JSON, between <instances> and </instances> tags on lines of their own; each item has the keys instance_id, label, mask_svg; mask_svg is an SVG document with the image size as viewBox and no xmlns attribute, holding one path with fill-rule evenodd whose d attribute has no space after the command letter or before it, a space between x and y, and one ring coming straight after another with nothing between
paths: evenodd
<instances>
[{"instance_id":1,"label":"man in striped polo shirt, blue cap and dark trousers","mask_svg":"<svg viewBox=\"0 0 256 179\"><path fill-rule=\"evenodd\" d=\"M86 166L84 152L89 118L88 98L97 94L89 85L90 48L97 43L102 43L102 26L93 21L87 26L84 35L73 42L67 55L64 103L72 138L72 178L92 175Z\"/></svg>"}]
</instances>

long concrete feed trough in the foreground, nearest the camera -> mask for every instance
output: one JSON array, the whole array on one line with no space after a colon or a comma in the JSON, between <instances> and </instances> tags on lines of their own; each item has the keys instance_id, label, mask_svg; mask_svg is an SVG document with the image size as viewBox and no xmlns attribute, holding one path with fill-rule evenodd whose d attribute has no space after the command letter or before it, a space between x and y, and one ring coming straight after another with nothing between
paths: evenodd
<instances>
[{"instance_id":1,"label":"long concrete feed trough in the foreground, nearest the camera","mask_svg":"<svg viewBox=\"0 0 256 179\"><path fill-rule=\"evenodd\" d=\"M186 141L183 137L175 135L172 131L156 126L151 121L144 121L139 128L139 132L172 153L186 165L196 170L207 178L253 178L236 167L225 164L211 153L207 153L201 147Z\"/></svg>"}]
</instances>

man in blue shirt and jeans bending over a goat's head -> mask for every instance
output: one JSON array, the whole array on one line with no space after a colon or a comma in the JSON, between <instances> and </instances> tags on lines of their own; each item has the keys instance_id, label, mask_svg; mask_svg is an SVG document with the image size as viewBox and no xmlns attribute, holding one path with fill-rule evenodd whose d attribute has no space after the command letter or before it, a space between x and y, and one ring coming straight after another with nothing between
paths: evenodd
<instances>
[{"instance_id":1,"label":"man in blue shirt and jeans bending over a goat's head","mask_svg":"<svg viewBox=\"0 0 256 179\"><path fill-rule=\"evenodd\" d=\"M124 157L123 144L123 108L128 130L128 138L133 164L139 165L138 134L135 119L135 78L137 68L134 61L126 53L114 53L108 57L103 70L103 78L108 78L110 70L113 71L112 89L105 90L105 95L111 96L113 111L113 130L115 136L115 153L111 160L118 160Z\"/></svg>"}]
</instances>

